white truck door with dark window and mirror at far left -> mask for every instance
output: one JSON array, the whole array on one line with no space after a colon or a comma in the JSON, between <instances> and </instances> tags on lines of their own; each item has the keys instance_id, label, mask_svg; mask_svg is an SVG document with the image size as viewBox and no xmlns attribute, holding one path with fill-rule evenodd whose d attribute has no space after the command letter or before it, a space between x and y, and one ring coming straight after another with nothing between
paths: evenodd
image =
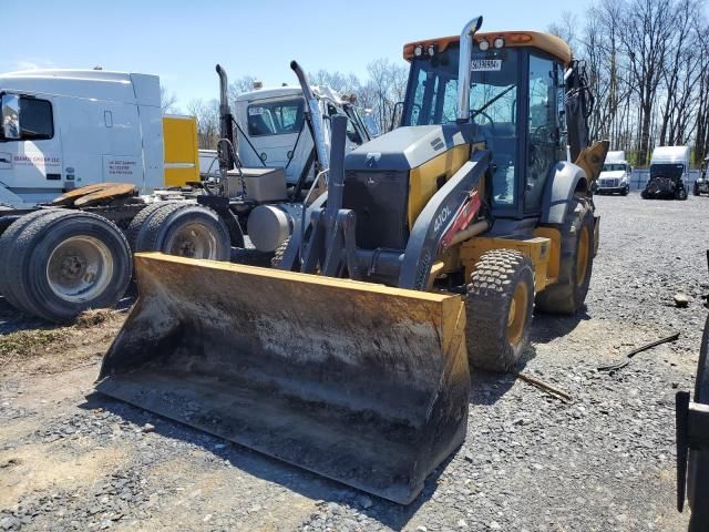
<instances>
[{"instance_id":1,"label":"white truck door with dark window and mirror at far left","mask_svg":"<svg viewBox=\"0 0 709 532\"><path fill-rule=\"evenodd\" d=\"M64 190L55 103L52 96L2 94L0 183L29 204Z\"/></svg>"}]
</instances>

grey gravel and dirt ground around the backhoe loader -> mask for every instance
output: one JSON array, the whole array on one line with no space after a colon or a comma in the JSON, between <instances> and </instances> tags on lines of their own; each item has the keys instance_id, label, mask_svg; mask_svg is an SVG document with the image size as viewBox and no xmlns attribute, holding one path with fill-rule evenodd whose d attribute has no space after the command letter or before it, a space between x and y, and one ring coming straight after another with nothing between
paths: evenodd
<instances>
[{"instance_id":1,"label":"grey gravel and dirt ground around the backhoe loader","mask_svg":"<svg viewBox=\"0 0 709 532\"><path fill-rule=\"evenodd\" d=\"M596 205L587 308L535 316L524 367L573 400L474 375L467 439L410 507L93 395L119 319L61 329L61 341L3 362L0 530L685 530L674 395L693 386L709 198ZM690 296L688 308L675 307L676 293ZM35 325L0 305L2 335ZM623 370L596 371L674 331L678 341Z\"/></svg>"}]
</instances>

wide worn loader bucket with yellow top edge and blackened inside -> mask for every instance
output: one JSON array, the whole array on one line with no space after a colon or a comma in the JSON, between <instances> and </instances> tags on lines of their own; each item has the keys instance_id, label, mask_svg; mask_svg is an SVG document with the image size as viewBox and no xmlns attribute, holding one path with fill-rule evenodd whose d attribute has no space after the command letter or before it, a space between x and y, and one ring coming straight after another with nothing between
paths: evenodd
<instances>
[{"instance_id":1,"label":"wide worn loader bucket with yellow top edge and blackened inside","mask_svg":"<svg viewBox=\"0 0 709 532\"><path fill-rule=\"evenodd\" d=\"M399 503L463 441L458 296L162 254L103 393Z\"/></svg>"}]
</instances>

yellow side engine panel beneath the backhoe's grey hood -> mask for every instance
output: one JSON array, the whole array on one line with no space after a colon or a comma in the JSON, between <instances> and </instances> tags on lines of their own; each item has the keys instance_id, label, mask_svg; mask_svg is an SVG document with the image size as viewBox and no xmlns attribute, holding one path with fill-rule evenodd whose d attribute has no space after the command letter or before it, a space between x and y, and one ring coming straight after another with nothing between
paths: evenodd
<instances>
[{"instance_id":1,"label":"yellow side engine panel beneath the backhoe's grey hood","mask_svg":"<svg viewBox=\"0 0 709 532\"><path fill-rule=\"evenodd\" d=\"M409 174L409 228L413 227L423 207L470 157L470 144L460 144L412 168Z\"/></svg>"}]
</instances>

